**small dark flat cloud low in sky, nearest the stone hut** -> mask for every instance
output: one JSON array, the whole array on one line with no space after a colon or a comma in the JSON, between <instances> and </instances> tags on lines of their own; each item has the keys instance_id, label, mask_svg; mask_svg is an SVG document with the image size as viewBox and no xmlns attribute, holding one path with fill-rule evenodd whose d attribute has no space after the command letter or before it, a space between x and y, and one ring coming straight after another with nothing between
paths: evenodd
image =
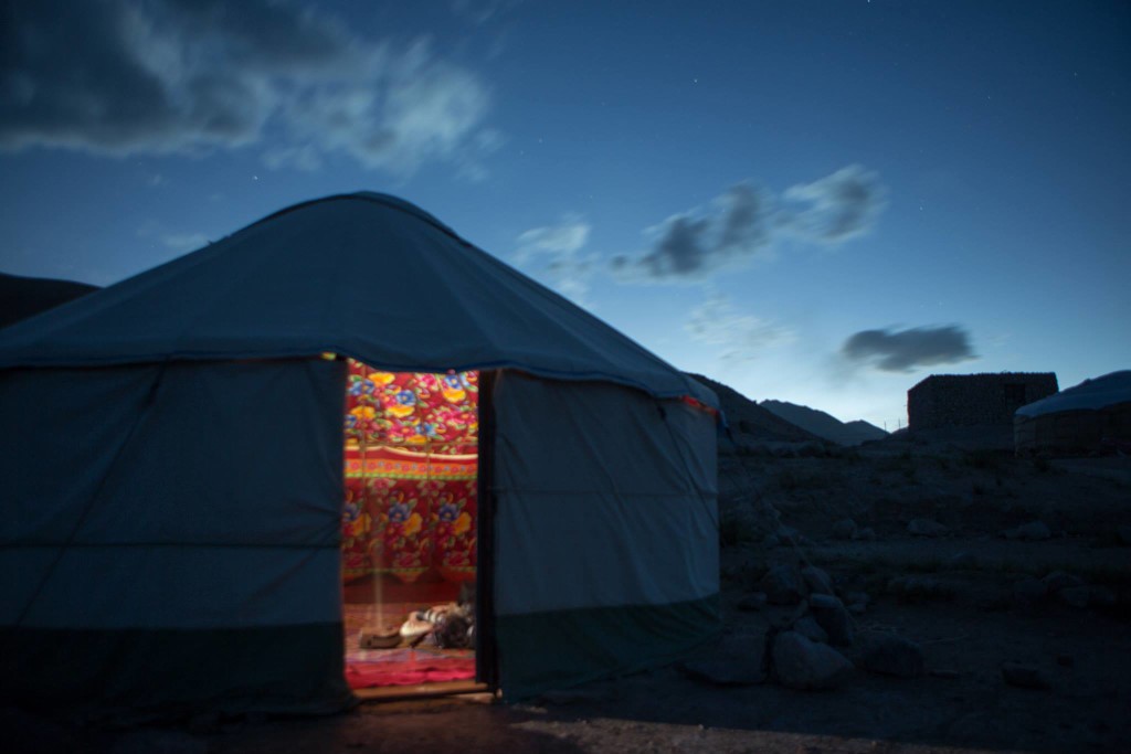
<instances>
[{"instance_id":1,"label":"small dark flat cloud low in sky, nearest the stone hut","mask_svg":"<svg viewBox=\"0 0 1131 754\"><path fill-rule=\"evenodd\" d=\"M910 372L976 358L969 332L957 324L900 331L862 330L845 340L840 353L849 361L870 363L884 372Z\"/></svg>"}]
</instances>

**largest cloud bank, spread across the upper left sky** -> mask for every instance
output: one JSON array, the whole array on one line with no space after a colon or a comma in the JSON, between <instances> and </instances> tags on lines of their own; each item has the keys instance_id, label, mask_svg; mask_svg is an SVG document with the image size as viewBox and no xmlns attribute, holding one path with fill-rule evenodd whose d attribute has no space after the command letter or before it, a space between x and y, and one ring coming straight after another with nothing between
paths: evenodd
<instances>
[{"instance_id":1,"label":"largest cloud bank, spread across the upper left sky","mask_svg":"<svg viewBox=\"0 0 1131 754\"><path fill-rule=\"evenodd\" d=\"M411 173L475 165L490 93L428 41L398 49L271 0L63 0L6 9L0 149L207 154L273 146Z\"/></svg>"}]
</instances>

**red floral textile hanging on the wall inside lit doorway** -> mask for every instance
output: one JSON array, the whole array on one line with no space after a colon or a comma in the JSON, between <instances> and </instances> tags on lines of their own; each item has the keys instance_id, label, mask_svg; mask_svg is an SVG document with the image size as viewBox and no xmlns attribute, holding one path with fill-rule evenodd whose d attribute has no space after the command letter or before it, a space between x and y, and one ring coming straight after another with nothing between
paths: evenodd
<instances>
[{"instance_id":1,"label":"red floral textile hanging on the wall inside lit doorway","mask_svg":"<svg viewBox=\"0 0 1131 754\"><path fill-rule=\"evenodd\" d=\"M475 578L477 374L394 374L351 361L347 578Z\"/></svg>"}]
</instances>

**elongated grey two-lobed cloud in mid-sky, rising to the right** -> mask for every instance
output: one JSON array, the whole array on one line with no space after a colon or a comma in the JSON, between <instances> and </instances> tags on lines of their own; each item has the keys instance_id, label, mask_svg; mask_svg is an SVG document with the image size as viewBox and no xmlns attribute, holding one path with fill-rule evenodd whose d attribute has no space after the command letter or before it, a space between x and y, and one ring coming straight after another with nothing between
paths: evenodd
<instances>
[{"instance_id":1,"label":"elongated grey two-lobed cloud in mid-sky, rising to the right","mask_svg":"<svg viewBox=\"0 0 1131 754\"><path fill-rule=\"evenodd\" d=\"M648 251L619 254L614 276L633 283L699 283L719 270L772 255L789 236L835 245L867 233L886 206L874 173L849 165L782 197L752 182L737 183L706 207L673 215L648 228Z\"/></svg>"}]
</instances>

